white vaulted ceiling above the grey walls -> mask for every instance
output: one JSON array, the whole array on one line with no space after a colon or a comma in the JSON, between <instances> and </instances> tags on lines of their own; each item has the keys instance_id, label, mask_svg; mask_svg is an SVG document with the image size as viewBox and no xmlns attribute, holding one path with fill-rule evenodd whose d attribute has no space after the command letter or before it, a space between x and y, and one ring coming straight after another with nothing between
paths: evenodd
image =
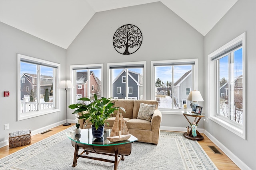
<instances>
[{"instance_id":1,"label":"white vaulted ceiling above the grey walls","mask_svg":"<svg viewBox=\"0 0 256 170\"><path fill-rule=\"evenodd\" d=\"M96 12L160 1L202 35L237 0L0 0L0 21L67 49Z\"/></svg>"}]
</instances>

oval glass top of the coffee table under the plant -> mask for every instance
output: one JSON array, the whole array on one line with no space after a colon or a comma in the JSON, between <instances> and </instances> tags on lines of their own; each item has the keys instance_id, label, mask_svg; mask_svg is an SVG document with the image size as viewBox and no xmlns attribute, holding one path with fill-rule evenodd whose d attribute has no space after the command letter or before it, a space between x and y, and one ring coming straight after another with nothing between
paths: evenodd
<instances>
[{"instance_id":1,"label":"oval glass top of the coffee table under the plant","mask_svg":"<svg viewBox=\"0 0 256 170\"><path fill-rule=\"evenodd\" d=\"M74 131L67 132L67 136L74 142L85 144L85 145L93 145L93 146L102 146L102 145L122 145L126 143L132 143L137 141L138 139L131 135L131 137L126 141L119 142L110 142L107 137L109 137L111 129L105 129L104 135L101 138L95 138L92 136L92 129L82 129L80 134L76 134Z\"/></svg>"}]
</instances>

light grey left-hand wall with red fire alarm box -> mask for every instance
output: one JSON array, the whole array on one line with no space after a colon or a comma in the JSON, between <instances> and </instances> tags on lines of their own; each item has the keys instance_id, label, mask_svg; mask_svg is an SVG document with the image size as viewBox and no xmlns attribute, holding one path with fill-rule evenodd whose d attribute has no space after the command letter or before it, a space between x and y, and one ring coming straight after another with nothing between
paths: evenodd
<instances>
[{"instance_id":1,"label":"light grey left-hand wall with red fire alarm box","mask_svg":"<svg viewBox=\"0 0 256 170\"><path fill-rule=\"evenodd\" d=\"M66 119L65 106L61 112L17 121L17 53L61 64L61 78L66 75L66 50L43 41L28 33L0 22L0 146L8 140L8 133L30 129L44 129ZM10 97L4 97L10 91ZM66 103L65 91L61 91L62 103ZM64 110L64 111L63 111ZM66 122L66 121L65 121ZM4 124L9 129L4 130ZM2 143L2 144L1 144ZM4 145L4 144L3 144Z\"/></svg>"}]
</instances>

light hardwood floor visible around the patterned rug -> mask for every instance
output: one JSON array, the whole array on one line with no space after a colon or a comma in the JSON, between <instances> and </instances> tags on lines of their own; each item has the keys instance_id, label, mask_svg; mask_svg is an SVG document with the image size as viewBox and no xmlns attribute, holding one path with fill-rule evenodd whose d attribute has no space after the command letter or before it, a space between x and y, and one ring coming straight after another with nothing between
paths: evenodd
<instances>
[{"instance_id":1,"label":"light hardwood floor visible around the patterned rug","mask_svg":"<svg viewBox=\"0 0 256 170\"><path fill-rule=\"evenodd\" d=\"M75 125L75 124L72 123L71 125ZM42 139L45 139L47 137L50 137L51 135L54 135L60 131L63 131L68 127L70 126L59 125L57 127L50 129L51 131L47 133L36 134L32 136L31 144L41 141ZM216 145L214 145L214 143L206 135L204 135L204 140L198 141L198 143L201 145L201 147L204 149L206 154L210 157L212 162L214 162L214 164L217 166L219 170L240 170L240 168L238 168L238 166L236 166L236 164L234 164L234 162L232 162L232 160L230 160L230 158L228 158L228 156L226 156L222 152L222 150L220 150ZM216 147L216 149L218 149L218 151L221 152L222 154L214 154L214 152L208 146ZM11 148L11 149L9 149L9 146L2 147L0 148L0 158L8 156L9 154L12 154L24 147L27 147L27 146L25 145L25 146Z\"/></svg>"}]
</instances>

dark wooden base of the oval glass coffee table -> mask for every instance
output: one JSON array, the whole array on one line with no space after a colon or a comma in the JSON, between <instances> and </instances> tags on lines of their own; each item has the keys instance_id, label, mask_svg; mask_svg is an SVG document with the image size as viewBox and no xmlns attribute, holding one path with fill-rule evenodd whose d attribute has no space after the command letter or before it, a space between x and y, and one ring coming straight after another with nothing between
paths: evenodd
<instances>
[{"instance_id":1,"label":"dark wooden base of the oval glass coffee table","mask_svg":"<svg viewBox=\"0 0 256 170\"><path fill-rule=\"evenodd\" d=\"M132 151L132 143L126 143L123 145L112 145L112 146L92 146L92 145L84 145L81 143L76 143L72 141L72 145L75 147L75 152L74 152L74 160L73 160L73 167L76 166L77 164L77 159L78 158L88 158L88 159L94 159L94 160L101 160L104 162L111 162L114 163L114 170L117 170L118 163L120 160L124 160L124 156L128 156L131 154ZM83 152L78 154L78 150L84 149ZM96 154L104 154L108 156L114 156L114 160L109 160L109 159L104 159L104 158L97 158L97 157L92 157L88 156L89 153L96 153ZM84 155L84 153L86 155Z\"/></svg>"}]
</instances>

